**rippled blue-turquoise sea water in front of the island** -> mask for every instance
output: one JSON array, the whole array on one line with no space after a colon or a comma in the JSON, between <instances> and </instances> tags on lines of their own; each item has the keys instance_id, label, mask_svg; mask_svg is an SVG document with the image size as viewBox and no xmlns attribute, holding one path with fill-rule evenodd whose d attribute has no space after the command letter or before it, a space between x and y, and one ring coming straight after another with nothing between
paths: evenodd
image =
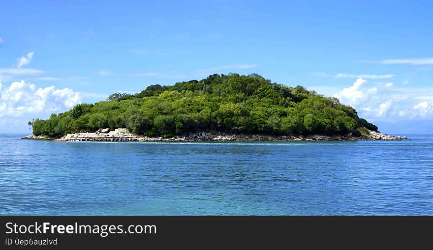
<instances>
[{"instance_id":1,"label":"rippled blue-turquoise sea water in front of the island","mask_svg":"<svg viewBox=\"0 0 433 250\"><path fill-rule=\"evenodd\" d=\"M0 135L1 215L433 215L433 136L58 142Z\"/></svg>"}]
</instances>

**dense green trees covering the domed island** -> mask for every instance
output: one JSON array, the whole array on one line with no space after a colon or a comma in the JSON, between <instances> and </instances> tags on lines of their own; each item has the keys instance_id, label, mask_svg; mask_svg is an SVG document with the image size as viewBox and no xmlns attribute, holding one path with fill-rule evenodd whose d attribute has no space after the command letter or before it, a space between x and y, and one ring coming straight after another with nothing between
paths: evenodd
<instances>
[{"instance_id":1,"label":"dense green trees covering the domed island","mask_svg":"<svg viewBox=\"0 0 433 250\"><path fill-rule=\"evenodd\" d=\"M94 105L79 104L29 125L34 135L49 137L100 128L164 137L201 131L273 135L357 135L364 127L377 131L337 98L272 83L257 74L214 74L173 86L155 84L133 95L115 93Z\"/></svg>"}]
</instances>

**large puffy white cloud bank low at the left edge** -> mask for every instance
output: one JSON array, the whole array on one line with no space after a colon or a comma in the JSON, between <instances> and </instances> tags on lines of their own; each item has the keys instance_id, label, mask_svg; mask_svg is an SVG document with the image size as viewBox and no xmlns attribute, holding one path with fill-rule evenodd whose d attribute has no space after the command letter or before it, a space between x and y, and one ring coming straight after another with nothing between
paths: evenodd
<instances>
[{"instance_id":1,"label":"large puffy white cloud bank low at the left edge","mask_svg":"<svg viewBox=\"0 0 433 250\"><path fill-rule=\"evenodd\" d=\"M81 95L67 87L37 88L24 81L13 82L10 86L0 83L0 117L65 111L80 102Z\"/></svg>"}]
</instances>

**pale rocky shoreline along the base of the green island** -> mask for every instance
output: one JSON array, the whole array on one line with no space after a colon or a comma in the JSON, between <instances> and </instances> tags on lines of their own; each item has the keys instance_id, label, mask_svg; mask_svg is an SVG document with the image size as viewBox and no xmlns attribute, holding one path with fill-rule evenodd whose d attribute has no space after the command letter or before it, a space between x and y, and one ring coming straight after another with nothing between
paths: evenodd
<instances>
[{"instance_id":1,"label":"pale rocky shoreline along the base of the green island","mask_svg":"<svg viewBox=\"0 0 433 250\"><path fill-rule=\"evenodd\" d=\"M95 133L72 133L62 138L49 138L44 136L26 136L22 139L60 140L60 141L165 141L165 142L193 142L193 141L357 141L357 140L405 140L406 137L395 137L368 130L361 137L353 136L272 136L272 135L246 135L224 133L191 133L188 136L176 136L173 138L136 136L126 129L119 128L115 131L109 129L98 130Z\"/></svg>"}]
</instances>

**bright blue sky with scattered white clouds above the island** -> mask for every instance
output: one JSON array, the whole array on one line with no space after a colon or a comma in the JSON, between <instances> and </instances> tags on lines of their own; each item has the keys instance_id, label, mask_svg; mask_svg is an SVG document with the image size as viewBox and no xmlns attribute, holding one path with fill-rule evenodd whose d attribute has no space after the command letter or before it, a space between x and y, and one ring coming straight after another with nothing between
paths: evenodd
<instances>
[{"instance_id":1,"label":"bright blue sky with scattered white clouds above the island","mask_svg":"<svg viewBox=\"0 0 433 250\"><path fill-rule=\"evenodd\" d=\"M230 72L337 96L386 133L431 129L431 1L0 6L0 133L114 92Z\"/></svg>"}]
</instances>

